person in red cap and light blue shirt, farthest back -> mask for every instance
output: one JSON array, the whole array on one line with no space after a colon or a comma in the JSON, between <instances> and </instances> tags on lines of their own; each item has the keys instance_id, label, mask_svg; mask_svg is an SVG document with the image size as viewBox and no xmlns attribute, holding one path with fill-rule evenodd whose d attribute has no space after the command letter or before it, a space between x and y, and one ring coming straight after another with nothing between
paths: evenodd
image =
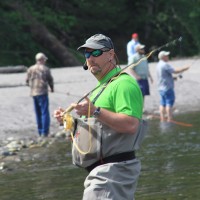
<instances>
[{"instance_id":1,"label":"person in red cap and light blue shirt, farthest back","mask_svg":"<svg viewBox=\"0 0 200 200\"><path fill-rule=\"evenodd\" d=\"M137 33L132 34L132 39L127 44L128 65L132 64L132 57L136 53L135 46L140 44L139 36Z\"/></svg>"}]
</instances>

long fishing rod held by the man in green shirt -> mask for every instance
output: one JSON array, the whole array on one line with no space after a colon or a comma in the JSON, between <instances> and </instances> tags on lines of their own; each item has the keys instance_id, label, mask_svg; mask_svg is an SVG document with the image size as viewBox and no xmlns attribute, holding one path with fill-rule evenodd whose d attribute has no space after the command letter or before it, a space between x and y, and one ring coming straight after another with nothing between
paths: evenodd
<instances>
[{"instance_id":1,"label":"long fishing rod held by the man in green shirt","mask_svg":"<svg viewBox=\"0 0 200 200\"><path fill-rule=\"evenodd\" d=\"M148 59L153 53L157 52L157 51L160 51L161 49L165 48L165 47L169 47L169 46L174 46L176 45L178 42L181 42L182 41L182 37L179 37L175 40L172 40L158 48L155 48L153 49L151 52L149 52L145 57L141 58L137 63L132 63L130 65L127 65L125 68L123 68L118 74L115 74L111 79L110 79L110 82L112 82L114 79L118 78L119 75L121 73L123 73L126 69L128 68L132 68L132 67L135 67L136 65L138 65L140 62L142 62L143 60L146 60ZM108 84L107 84L108 85ZM99 87L101 87L102 85L99 85L97 87L95 87L94 89L92 89L91 91L89 91L87 94L85 94L83 97L81 97L78 101L77 101L77 104L79 104L82 100L84 100L88 95L90 95L92 92L94 92L95 90L97 90ZM65 115L65 113L70 113L72 110L73 110L73 106L69 106L62 114Z\"/></svg>"}]
</instances>

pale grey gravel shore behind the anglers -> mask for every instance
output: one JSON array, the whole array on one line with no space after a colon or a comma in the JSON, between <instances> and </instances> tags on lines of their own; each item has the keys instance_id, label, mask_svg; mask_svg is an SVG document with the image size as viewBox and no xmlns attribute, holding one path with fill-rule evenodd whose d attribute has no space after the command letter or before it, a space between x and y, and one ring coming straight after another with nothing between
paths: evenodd
<instances>
[{"instance_id":1,"label":"pale grey gravel shore behind the anglers","mask_svg":"<svg viewBox=\"0 0 200 200\"><path fill-rule=\"evenodd\" d=\"M169 64L174 68L186 66L191 63L193 65L188 71L183 73L183 78L178 78L175 82L175 117L176 115L200 111L198 109L200 105L200 58L195 60L188 58L169 61ZM150 96L145 97L144 105L147 115L159 115L156 64L149 63L154 83L150 84ZM125 66L121 67L123 69ZM66 109L72 102L77 102L78 99L96 86L97 81L89 71L83 70L82 66L56 68L51 69L51 72L55 82L55 92L49 93L49 109L51 113L50 135L53 136L62 132L57 121L53 118L53 111L58 107ZM25 86L25 78L25 72L0 74L0 157L6 141L29 139L35 140L37 143L39 140L33 101L29 96L29 87ZM72 114L74 114L73 111ZM146 114L144 114L144 117L146 117Z\"/></svg>"}]
</instances>

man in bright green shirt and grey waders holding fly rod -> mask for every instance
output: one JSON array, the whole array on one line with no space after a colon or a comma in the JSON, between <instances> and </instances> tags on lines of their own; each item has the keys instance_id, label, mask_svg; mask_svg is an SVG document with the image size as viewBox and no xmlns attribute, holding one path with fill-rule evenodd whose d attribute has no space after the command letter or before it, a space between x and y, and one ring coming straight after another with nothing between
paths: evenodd
<instances>
[{"instance_id":1,"label":"man in bright green shirt and grey waders holding fly rod","mask_svg":"<svg viewBox=\"0 0 200 200\"><path fill-rule=\"evenodd\" d=\"M72 159L89 172L83 200L133 200L141 170L135 155L139 142L136 137L142 137L147 127L142 120L141 90L136 80L121 73L109 37L93 35L78 50L84 52L84 69L98 81L90 96L72 103L70 109L82 116L76 119L72 135ZM62 123L65 113L59 108L54 117Z\"/></svg>"}]
</instances>

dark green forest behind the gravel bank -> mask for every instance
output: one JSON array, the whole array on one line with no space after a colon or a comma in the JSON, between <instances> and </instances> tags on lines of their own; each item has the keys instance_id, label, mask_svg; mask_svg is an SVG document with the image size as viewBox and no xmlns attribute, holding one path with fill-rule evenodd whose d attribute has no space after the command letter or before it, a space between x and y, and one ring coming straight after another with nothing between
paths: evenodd
<instances>
[{"instance_id":1,"label":"dark green forest behind the gravel bank","mask_svg":"<svg viewBox=\"0 0 200 200\"><path fill-rule=\"evenodd\" d=\"M200 52L200 0L6 0L0 16L0 66L30 66L38 52L53 68L81 65L77 47L96 33L113 40L121 64L133 32L146 52L179 37L165 48L173 57Z\"/></svg>"}]
</instances>

